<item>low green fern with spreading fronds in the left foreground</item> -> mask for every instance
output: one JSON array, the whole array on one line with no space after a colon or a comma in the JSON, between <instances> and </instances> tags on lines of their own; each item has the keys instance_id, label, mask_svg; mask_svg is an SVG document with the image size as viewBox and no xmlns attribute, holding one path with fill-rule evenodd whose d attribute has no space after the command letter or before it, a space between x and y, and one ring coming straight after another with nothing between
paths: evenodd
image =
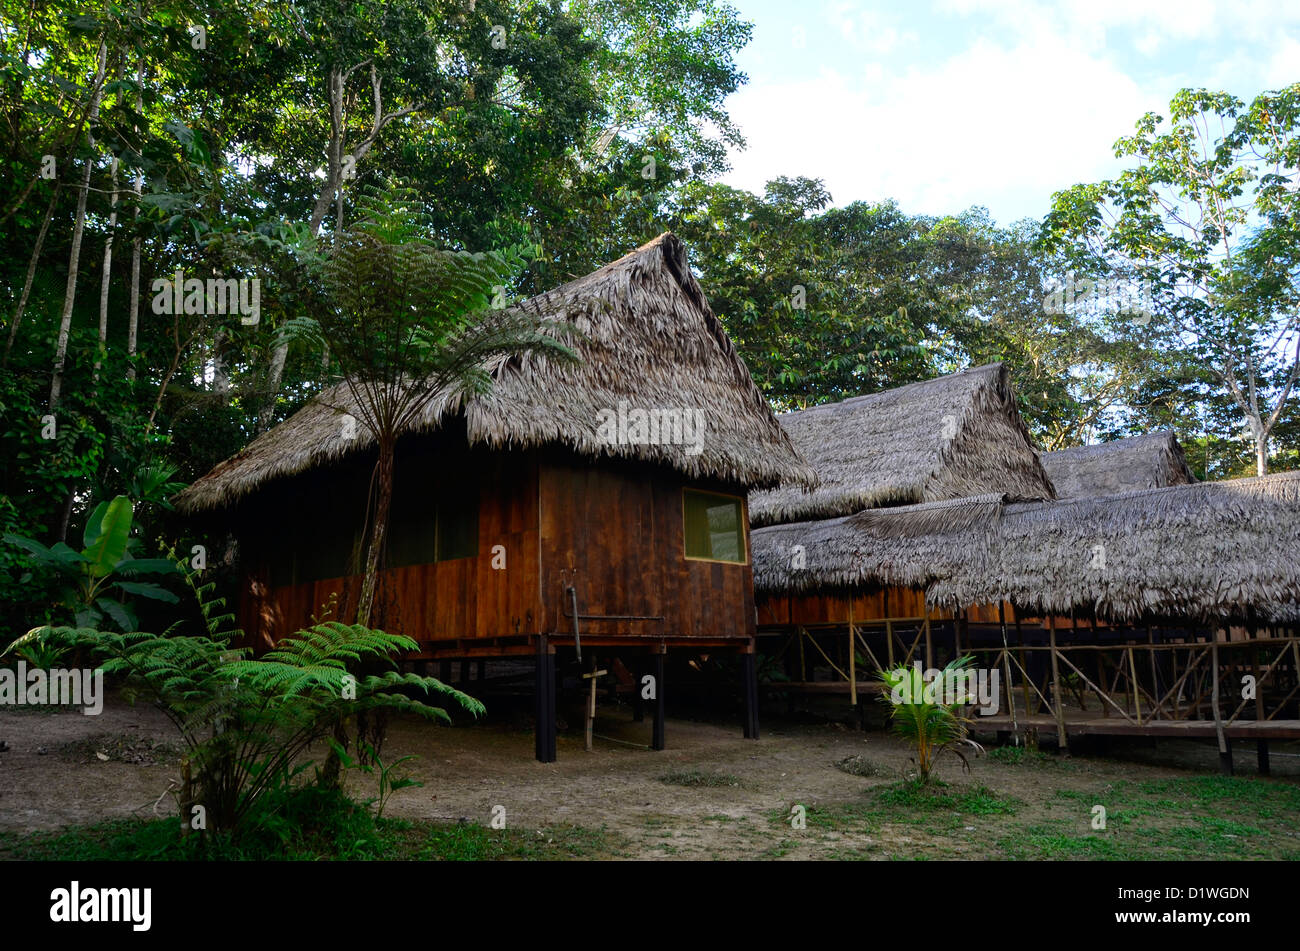
<instances>
[{"instance_id":1,"label":"low green fern with spreading fronds in the left foreground","mask_svg":"<svg viewBox=\"0 0 1300 951\"><path fill-rule=\"evenodd\" d=\"M484 711L478 700L433 677L396 669L352 673L365 663L393 664L395 655L417 648L407 637L360 625L315 624L250 657L247 648L233 646L242 631L224 613L225 602L213 596L213 585L200 586L183 563L178 568L198 602L203 634L182 633L183 622L162 634L44 628L18 646L40 638L87 650L105 673L122 678L131 702L143 698L168 716L186 750L182 826L238 838L264 822L268 798L294 786L311 767L300 757L346 716L386 709L450 722L443 707L428 702L438 695L476 716ZM384 782L386 800L400 785L390 774Z\"/></svg>"}]
</instances>

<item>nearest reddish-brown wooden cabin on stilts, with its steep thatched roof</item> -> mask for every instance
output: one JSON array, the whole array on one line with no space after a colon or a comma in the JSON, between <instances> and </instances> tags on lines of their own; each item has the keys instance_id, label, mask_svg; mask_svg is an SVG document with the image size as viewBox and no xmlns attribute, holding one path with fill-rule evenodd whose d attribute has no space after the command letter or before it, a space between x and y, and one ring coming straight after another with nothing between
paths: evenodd
<instances>
[{"instance_id":1,"label":"nearest reddish-brown wooden cabin on stilts, with its steep thatched roof","mask_svg":"<svg viewBox=\"0 0 1300 951\"><path fill-rule=\"evenodd\" d=\"M419 642L411 660L442 679L454 661L468 679L471 661L482 677L485 659L534 659L543 763L558 655L581 661L589 709L615 659L636 673L637 704L653 685L662 750L666 653L736 652L757 738L746 494L815 473L673 235L519 307L571 322L580 360L500 360L489 392L436 400L402 437L380 624ZM238 540L239 617L260 644L332 599L337 616L355 611L374 440L352 411L346 386L324 391L178 499Z\"/></svg>"}]
</instances>

